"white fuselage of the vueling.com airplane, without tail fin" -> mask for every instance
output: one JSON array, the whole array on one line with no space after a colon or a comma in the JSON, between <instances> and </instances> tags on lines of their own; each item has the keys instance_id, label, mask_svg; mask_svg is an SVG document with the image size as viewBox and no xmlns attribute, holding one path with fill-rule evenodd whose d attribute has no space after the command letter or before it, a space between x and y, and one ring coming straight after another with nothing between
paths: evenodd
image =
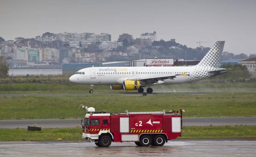
<instances>
[{"instance_id":1,"label":"white fuselage of the vueling.com airplane, without tail fin","mask_svg":"<svg viewBox=\"0 0 256 157\"><path fill-rule=\"evenodd\" d=\"M174 80L167 79L165 81L158 81L156 84L180 84L201 80L206 77L205 73L195 75L195 67L196 66L91 67L79 70L77 74L70 77L70 81L79 84L114 85L123 84L124 80L133 80L133 78L177 75ZM81 74L79 74L80 72ZM210 74L207 75L207 77L210 77Z\"/></svg>"}]
</instances>

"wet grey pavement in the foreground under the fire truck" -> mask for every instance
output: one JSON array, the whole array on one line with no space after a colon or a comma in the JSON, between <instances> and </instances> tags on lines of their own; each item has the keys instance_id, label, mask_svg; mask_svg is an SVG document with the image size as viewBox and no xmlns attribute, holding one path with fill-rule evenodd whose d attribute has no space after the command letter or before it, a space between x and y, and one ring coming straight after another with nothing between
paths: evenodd
<instances>
[{"instance_id":1,"label":"wet grey pavement in the foreground under the fire truck","mask_svg":"<svg viewBox=\"0 0 256 157\"><path fill-rule=\"evenodd\" d=\"M174 140L162 147L113 142L100 148L91 142L0 142L0 157L254 157L256 140Z\"/></svg>"}]
</instances>

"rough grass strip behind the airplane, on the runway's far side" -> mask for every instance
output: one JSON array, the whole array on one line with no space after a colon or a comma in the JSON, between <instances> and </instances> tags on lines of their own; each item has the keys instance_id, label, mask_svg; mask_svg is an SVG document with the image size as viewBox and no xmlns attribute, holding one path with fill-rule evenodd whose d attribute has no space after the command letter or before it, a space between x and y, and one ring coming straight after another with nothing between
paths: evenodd
<instances>
[{"instance_id":1,"label":"rough grass strip behind the airplane, on the runway's far side","mask_svg":"<svg viewBox=\"0 0 256 157\"><path fill-rule=\"evenodd\" d=\"M186 84L152 86L155 92L167 91L256 91L256 83L245 82L191 82ZM73 83L0 83L0 93L24 93L24 92L54 92L54 93L88 93L88 85ZM97 93L127 92L124 90L111 90L110 86L94 86ZM128 91L129 92L129 91ZM130 91L137 92L137 91Z\"/></svg>"}]
</instances>

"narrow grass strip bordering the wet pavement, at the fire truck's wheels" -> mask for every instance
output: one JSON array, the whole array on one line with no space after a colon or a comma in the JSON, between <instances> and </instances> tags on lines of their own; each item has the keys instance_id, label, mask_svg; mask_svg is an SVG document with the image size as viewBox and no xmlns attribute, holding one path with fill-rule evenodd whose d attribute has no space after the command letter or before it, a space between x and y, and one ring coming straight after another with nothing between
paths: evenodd
<instances>
[{"instance_id":1,"label":"narrow grass strip bordering the wet pavement, at the fire truck's wheels","mask_svg":"<svg viewBox=\"0 0 256 157\"><path fill-rule=\"evenodd\" d=\"M82 140L81 128L49 128L42 131L25 129L0 129L0 141L53 141ZM183 127L182 137L192 138L256 138L256 126L187 126Z\"/></svg>"}]
</instances>

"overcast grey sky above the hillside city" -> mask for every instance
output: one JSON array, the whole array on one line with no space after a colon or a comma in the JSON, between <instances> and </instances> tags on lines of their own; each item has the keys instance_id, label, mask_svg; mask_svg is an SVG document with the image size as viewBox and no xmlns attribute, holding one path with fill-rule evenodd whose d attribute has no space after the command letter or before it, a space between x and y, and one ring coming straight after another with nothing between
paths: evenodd
<instances>
[{"instance_id":1,"label":"overcast grey sky above the hillside city","mask_svg":"<svg viewBox=\"0 0 256 157\"><path fill-rule=\"evenodd\" d=\"M225 40L224 51L256 53L256 0L0 0L0 36L34 38L51 33L122 33L188 47Z\"/></svg>"}]
</instances>

